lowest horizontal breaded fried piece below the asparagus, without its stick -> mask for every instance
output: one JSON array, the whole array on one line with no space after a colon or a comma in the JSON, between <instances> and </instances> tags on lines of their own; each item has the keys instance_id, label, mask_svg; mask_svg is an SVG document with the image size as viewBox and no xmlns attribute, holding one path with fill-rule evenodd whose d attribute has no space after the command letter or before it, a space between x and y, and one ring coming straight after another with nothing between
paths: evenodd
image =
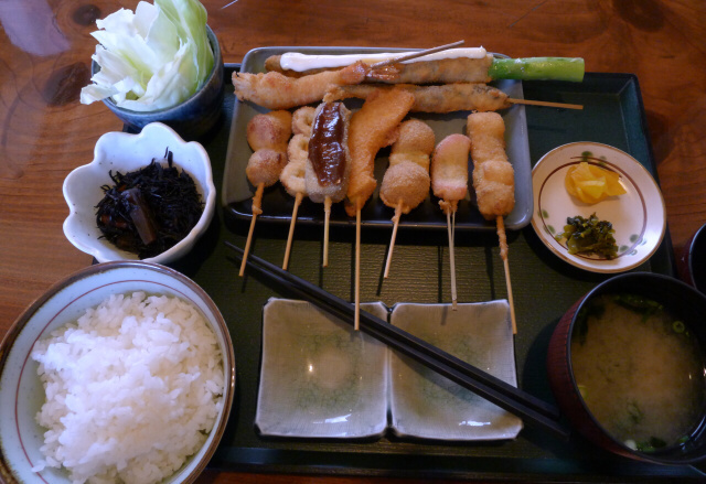
<instances>
[{"instance_id":1,"label":"lowest horizontal breaded fried piece below the asparagus, without its stick","mask_svg":"<svg viewBox=\"0 0 706 484\"><path fill-rule=\"evenodd\" d=\"M323 99L327 101L347 98L365 99L377 90L392 87L372 84L331 86ZM512 106L505 93L485 84L456 83L441 86L399 84L397 87L414 94L415 104L410 109L413 112L495 111Z\"/></svg>"}]
</instances>

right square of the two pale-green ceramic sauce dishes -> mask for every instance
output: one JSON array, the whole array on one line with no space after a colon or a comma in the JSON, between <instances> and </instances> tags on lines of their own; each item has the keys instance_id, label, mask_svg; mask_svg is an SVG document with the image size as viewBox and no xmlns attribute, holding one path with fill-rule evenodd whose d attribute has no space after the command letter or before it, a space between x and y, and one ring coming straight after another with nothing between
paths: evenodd
<instances>
[{"instance_id":1,"label":"right square of the two pale-green ceramic sauce dishes","mask_svg":"<svg viewBox=\"0 0 706 484\"><path fill-rule=\"evenodd\" d=\"M391 323L517 386L507 301L395 304ZM391 427L400 437L514 439L522 420L406 356L391 352Z\"/></svg>"}]
</instances>

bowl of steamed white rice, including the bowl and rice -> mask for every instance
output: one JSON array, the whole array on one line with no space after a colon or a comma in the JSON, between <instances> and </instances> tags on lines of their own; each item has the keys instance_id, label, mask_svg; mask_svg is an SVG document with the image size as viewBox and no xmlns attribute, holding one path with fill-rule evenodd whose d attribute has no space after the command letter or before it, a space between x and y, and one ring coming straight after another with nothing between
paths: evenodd
<instances>
[{"instance_id":1,"label":"bowl of steamed white rice, including the bowl and rice","mask_svg":"<svg viewBox=\"0 0 706 484\"><path fill-rule=\"evenodd\" d=\"M193 482L234 389L228 329L195 282L151 262L88 267L0 345L0 480Z\"/></svg>"}]
</instances>

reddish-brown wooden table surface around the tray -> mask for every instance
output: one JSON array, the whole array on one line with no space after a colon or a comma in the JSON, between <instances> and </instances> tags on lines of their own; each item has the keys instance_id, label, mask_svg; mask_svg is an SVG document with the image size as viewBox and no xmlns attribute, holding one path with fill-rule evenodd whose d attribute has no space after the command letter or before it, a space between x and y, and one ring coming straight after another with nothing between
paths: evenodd
<instances>
[{"instance_id":1,"label":"reddish-brown wooden table surface around the tray","mask_svg":"<svg viewBox=\"0 0 706 484\"><path fill-rule=\"evenodd\" d=\"M136 1L0 3L0 335L52 283L92 263L62 232L62 183L121 129L89 82L95 20ZM512 57L580 56L638 75L675 251L706 223L706 8L700 0L206 0L226 63L274 45L431 47L457 40ZM398 482L207 471L201 482ZM415 482L404 481L404 482Z\"/></svg>"}]
</instances>

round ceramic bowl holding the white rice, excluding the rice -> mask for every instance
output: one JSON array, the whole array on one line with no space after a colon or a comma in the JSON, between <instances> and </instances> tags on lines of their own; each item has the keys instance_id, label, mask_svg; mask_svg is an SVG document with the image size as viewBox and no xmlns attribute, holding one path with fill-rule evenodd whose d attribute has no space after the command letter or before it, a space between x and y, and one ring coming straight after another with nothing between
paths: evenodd
<instances>
[{"instance_id":1,"label":"round ceramic bowl holding the white rice, excluding the rice","mask_svg":"<svg viewBox=\"0 0 706 484\"><path fill-rule=\"evenodd\" d=\"M64 324L76 321L110 294L145 291L178 297L203 314L223 355L223 406L202 448L163 482L191 483L204 470L225 430L235 391L233 341L218 308L208 294L182 273L157 263L119 261L89 266L54 284L10 327L0 344L0 481L7 483L68 484L64 469L32 467L43 459L44 431L34 420L45 400L38 363L30 357L34 343Z\"/></svg>"}]
</instances>

